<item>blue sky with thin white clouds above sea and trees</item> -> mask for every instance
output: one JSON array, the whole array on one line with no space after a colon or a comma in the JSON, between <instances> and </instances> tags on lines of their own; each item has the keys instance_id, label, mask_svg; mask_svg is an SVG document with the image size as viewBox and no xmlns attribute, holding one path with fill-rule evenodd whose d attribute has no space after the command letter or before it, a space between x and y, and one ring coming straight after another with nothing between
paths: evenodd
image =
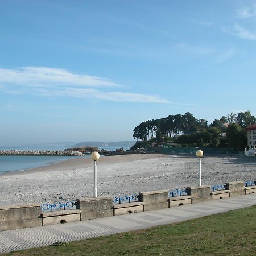
<instances>
[{"instance_id":1,"label":"blue sky with thin white clouds above sea and trees","mask_svg":"<svg viewBox=\"0 0 256 256\"><path fill-rule=\"evenodd\" d=\"M1 0L0 145L256 115L255 43L256 1Z\"/></svg>"}]
</instances>

